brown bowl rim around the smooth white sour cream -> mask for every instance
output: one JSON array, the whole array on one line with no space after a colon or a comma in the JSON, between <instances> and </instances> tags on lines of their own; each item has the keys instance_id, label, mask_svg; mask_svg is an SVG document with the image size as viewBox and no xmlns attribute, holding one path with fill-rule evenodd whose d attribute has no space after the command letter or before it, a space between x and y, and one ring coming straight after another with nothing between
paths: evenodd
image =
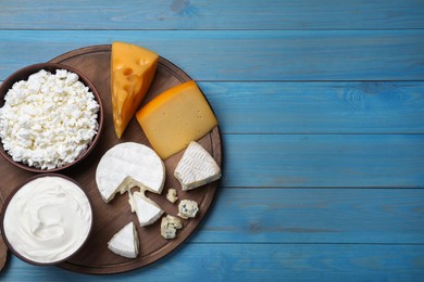
<instances>
[{"instance_id":1,"label":"brown bowl rim around the smooth white sour cream","mask_svg":"<svg viewBox=\"0 0 424 282\"><path fill-rule=\"evenodd\" d=\"M68 180L73 183L75 183L82 191L83 193L86 195L86 198L89 203L89 206L90 206L90 213L91 213L91 222L90 222L90 227L89 227L89 230L88 230L88 233L87 233L87 236L86 239L84 240L84 242L80 244L80 246L78 246L77 249L75 249L74 253L72 253L71 255L68 255L67 257L64 257L60 260L55 260L55 261L51 261L51 262L40 262L40 261L37 261L37 260L32 260L23 255L20 254L20 252L17 252L13 245L9 242L8 240L8 236L5 235L5 232L4 232L4 214L5 214L5 210L8 209L8 206L10 204L10 202L12 201L13 196L17 193L17 191L20 191L24 185L26 185L27 183L29 183L30 181L33 180L36 180L38 178L42 178L42 177L59 177L59 178L62 178L62 179L65 179L65 180ZM60 175L60 174L39 174L39 175L36 175L34 177L30 177L28 179L26 179L24 182L22 182L21 184L18 184L9 195L8 197L5 198L4 201L4 204L1 208L1 215L0 215L0 230L1 230L1 236L3 238L4 240L4 243L5 245L8 246L8 248L16 256L18 257L20 259L22 259L23 261L25 262L28 262L28 264L32 264L32 265L35 265L35 266L57 266L57 265L60 265L64 261L66 261L67 259L70 259L71 257L73 257L74 255L76 255L79 251L82 251L84 248L84 246L87 244L88 242L88 239L90 238L91 235L91 231L92 231L92 228L93 228L93 215L95 215L95 211L93 211L93 205L92 205L92 202L91 202L91 198L89 197L88 193L83 189L83 187L74 179L67 177L67 176L64 176L64 175Z\"/></svg>"}]
</instances>

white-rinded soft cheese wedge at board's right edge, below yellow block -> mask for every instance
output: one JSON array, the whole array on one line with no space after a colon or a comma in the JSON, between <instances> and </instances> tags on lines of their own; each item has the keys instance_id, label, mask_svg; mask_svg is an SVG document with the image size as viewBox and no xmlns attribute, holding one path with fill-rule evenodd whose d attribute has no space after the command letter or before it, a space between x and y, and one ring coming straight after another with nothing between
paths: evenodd
<instances>
[{"instance_id":1,"label":"white-rinded soft cheese wedge at board's right edge, below yellow block","mask_svg":"<svg viewBox=\"0 0 424 282\"><path fill-rule=\"evenodd\" d=\"M221 178L215 159L196 141L191 141L178 162L174 176L184 191L191 190Z\"/></svg>"}]
</instances>

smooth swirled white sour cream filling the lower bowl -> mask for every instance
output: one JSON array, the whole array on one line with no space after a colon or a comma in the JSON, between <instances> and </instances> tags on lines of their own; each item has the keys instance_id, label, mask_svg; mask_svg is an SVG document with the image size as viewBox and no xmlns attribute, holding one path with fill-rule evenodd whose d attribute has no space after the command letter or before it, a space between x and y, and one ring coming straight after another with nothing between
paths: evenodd
<instances>
[{"instance_id":1,"label":"smooth swirled white sour cream filling the lower bowl","mask_svg":"<svg viewBox=\"0 0 424 282\"><path fill-rule=\"evenodd\" d=\"M86 241L92 210L86 194L71 180L42 176L24 184L4 211L3 231L23 258L54 264Z\"/></svg>"}]
</instances>

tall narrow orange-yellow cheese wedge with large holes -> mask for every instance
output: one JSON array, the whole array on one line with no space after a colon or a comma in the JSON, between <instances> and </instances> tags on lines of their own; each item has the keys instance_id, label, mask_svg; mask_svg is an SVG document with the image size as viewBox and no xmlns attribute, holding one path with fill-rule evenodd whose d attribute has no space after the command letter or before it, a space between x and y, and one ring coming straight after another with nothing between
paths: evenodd
<instances>
[{"instance_id":1,"label":"tall narrow orange-yellow cheese wedge with large holes","mask_svg":"<svg viewBox=\"0 0 424 282\"><path fill-rule=\"evenodd\" d=\"M112 43L111 92L113 125L121 138L153 80L159 55L125 42Z\"/></svg>"}]
</instances>

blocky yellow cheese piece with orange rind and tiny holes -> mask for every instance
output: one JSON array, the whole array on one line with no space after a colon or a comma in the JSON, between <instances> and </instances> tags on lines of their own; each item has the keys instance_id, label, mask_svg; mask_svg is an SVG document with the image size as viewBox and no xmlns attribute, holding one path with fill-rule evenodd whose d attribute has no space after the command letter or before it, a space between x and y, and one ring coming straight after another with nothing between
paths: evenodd
<instances>
[{"instance_id":1,"label":"blocky yellow cheese piece with orange rind and tiny holes","mask_svg":"<svg viewBox=\"0 0 424 282\"><path fill-rule=\"evenodd\" d=\"M155 97L136 117L162 159L184 150L217 125L208 101L192 80Z\"/></svg>"}]
</instances>

